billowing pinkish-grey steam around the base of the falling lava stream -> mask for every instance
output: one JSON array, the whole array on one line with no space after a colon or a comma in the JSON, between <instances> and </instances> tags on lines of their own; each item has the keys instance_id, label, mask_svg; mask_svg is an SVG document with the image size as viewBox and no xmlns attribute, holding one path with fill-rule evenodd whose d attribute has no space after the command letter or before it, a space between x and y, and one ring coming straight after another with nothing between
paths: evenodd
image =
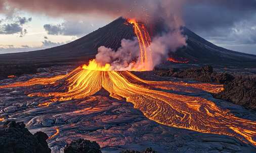
<instances>
[{"instance_id":1,"label":"billowing pinkish-grey steam around the base of the falling lava stream","mask_svg":"<svg viewBox=\"0 0 256 153\"><path fill-rule=\"evenodd\" d=\"M152 59L143 65L140 63L140 51L137 38L135 40L121 41L121 47L117 51L101 46L96 55L96 61L101 65L109 63L111 70L138 70L146 67L146 70L153 70L168 57L169 51L176 51L179 47L186 45L186 38L180 31L169 32L162 36L153 38L150 46L147 47L147 54L151 54ZM150 49L149 49L150 48Z\"/></svg>"}]
</instances>

